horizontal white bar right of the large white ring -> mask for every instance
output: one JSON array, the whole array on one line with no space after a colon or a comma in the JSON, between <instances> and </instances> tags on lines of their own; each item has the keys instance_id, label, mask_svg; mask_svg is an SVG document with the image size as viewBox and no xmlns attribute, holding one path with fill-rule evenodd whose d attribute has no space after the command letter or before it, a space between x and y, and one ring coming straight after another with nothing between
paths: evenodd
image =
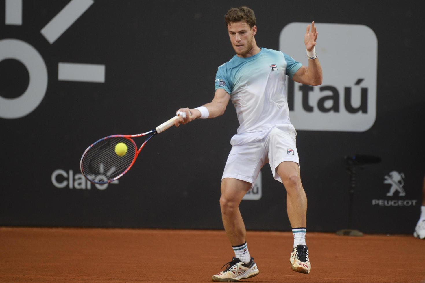
<instances>
[{"instance_id":1,"label":"horizontal white bar right of the large white ring","mask_svg":"<svg viewBox=\"0 0 425 283\"><path fill-rule=\"evenodd\" d=\"M59 62L57 68L57 79L59 81L89 81L94 83L104 83L105 65Z\"/></svg>"}]
</instances>

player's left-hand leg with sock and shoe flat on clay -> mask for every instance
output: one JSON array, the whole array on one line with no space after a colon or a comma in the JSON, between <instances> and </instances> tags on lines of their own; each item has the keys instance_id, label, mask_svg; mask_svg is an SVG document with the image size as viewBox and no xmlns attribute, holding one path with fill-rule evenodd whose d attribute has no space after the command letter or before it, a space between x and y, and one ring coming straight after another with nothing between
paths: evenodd
<instances>
[{"instance_id":1,"label":"player's left-hand leg with sock and shoe flat on clay","mask_svg":"<svg viewBox=\"0 0 425 283\"><path fill-rule=\"evenodd\" d=\"M246 230L244 220L239 211L239 204L251 183L233 178L221 180L221 218L227 238L235 251L235 258L227 265L227 268L211 277L214 282L234 282L258 275L259 271L254 259L249 256L246 244Z\"/></svg>"}]
</instances>

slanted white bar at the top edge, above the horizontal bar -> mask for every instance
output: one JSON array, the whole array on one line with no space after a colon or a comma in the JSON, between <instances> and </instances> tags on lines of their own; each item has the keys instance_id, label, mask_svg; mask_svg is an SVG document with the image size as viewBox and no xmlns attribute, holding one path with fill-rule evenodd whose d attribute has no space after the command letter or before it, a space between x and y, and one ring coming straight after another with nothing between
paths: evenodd
<instances>
[{"instance_id":1,"label":"slanted white bar at the top edge, above the horizontal bar","mask_svg":"<svg viewBox=\"0 0 425 283\"><path fill-rule=\"evenodd\" d=\"M44 28L41 34L52 44L94 3L93 0L71 0Z\"/></svg>"}]
</instances>

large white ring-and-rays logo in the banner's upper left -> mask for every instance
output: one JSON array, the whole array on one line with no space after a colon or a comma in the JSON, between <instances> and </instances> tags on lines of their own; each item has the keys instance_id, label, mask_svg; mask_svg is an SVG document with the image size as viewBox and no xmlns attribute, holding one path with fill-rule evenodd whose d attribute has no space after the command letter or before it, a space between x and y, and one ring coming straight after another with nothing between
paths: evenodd
<instances>
[{"instance_id":1,"label":"large white ring-and-rays logo in the banner's upper left","mask_svg":"<svg viewBox=\"0 0 425 283\"><path fill-rule=\"evenodd\" d=\"M30 1L26 3L30 3ZM35 5L34 3L33 5ZM41 29L40 33L50 44L53 44L93 3L93 0L71 0ZM22 6L22 0L5 1L6 25L23 25ZM49 53L50 50L45 50L45 52ZM3 60L13 60L23 64L28 71L29 82L26 90L18 97L11 98L0 95L0 118L24 117L40 105L46 94L48 67L37 49L21 39L0 40L0 62ZM58 62L57 70L59 81L105 82L105 65ZM21 78L16 78L16 80L19 79ZM26 82L20 83L25 84ZM4 95L11 94L5 93Z\"/></svg>"}]
</instances>

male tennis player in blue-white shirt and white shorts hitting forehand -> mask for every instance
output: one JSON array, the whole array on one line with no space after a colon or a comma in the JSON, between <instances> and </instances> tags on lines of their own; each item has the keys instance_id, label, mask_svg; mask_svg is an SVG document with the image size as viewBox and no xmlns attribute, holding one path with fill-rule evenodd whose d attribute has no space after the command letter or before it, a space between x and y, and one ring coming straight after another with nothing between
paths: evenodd
<instances>
[{"instance_id":1,"label":"male tennis player in blue-white shirt and white shorts hitting forehand","mask_svg":"<svg viewBox=\"0 0 425 283\"><path fill-rule=\"evenodd\" d=\"M307 198L300 179L296 131L288 115L285 75L301 84L322 83L322 69L314 50L316 27L312 22L306 28L304 43L309 64L303 66L281 51L257 46L256 20L250 8L231 8L224 19L236 55L218 67L212 101L194 109L178 109L176 121L179 126L197 118L215 118L224 113L229 99L238 114L240 126L230 140L232 149L224 167L220 197L224 230L235 257L224 271L212 276L212 281L235 282L259 273L249 255L239 204L266 163L270 164L274 179L283 182L286 189L287 213L294 234L292 270L309 274Z\"/></svg>"}]
</instances>

